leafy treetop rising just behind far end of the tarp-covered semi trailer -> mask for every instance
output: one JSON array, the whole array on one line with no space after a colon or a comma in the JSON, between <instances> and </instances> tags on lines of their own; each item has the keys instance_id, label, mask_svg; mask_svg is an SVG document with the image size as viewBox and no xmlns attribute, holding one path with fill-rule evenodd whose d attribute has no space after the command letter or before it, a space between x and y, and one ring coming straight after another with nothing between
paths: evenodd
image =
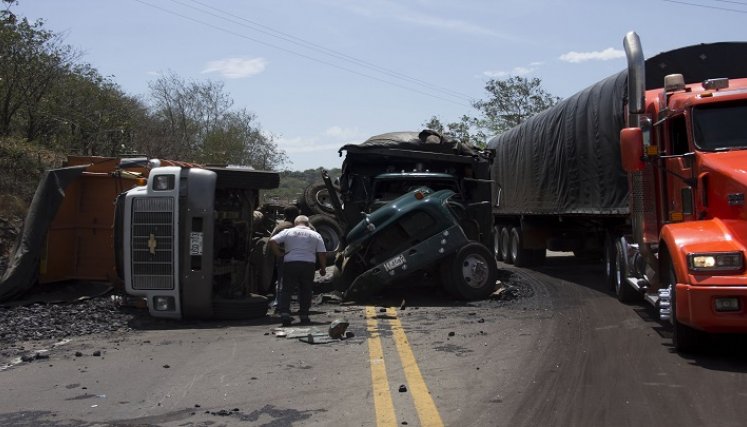
<instances>
[{"instance_id":1,"label":"leafy treetop rising just behind far end of the tarp-covered semi trailer","mask_svg":"<svg viewBox=\"0 0 747 427\"><path fill-rule=\"evenodd\" d=\"M472 103L481 114L477 126L488 134L497 135L526 119L544 111L560 101L560 98L542 89L542 80L512 76L505 80L490 79L485 84L490 95L487 100Z\"/></svg>"}]
</instances>

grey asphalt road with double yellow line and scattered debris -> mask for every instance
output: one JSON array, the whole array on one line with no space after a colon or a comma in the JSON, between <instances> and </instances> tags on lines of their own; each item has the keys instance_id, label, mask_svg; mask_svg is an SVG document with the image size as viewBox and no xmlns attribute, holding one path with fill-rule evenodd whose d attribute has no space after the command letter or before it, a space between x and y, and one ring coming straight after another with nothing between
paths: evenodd
<instances>
[{"instance_id":1,"label":"grey asphalt road with double yellow line and scattered debris","mask_svg":"<svg viewBox=\"0 0 747 427\"><path fill-rule=\"evenodd\" d=\"M147 316L131 333L46 343L48 359L0 371L0 425L745 424L744 337L679 355L653 309L617 302L599 266L557 256L500 267L517 298L464 303L417 288L368 306L319 303L320 335L350 323L352 336L330 343L276 336L277 318Z\"/></svg>"}]
</instances>

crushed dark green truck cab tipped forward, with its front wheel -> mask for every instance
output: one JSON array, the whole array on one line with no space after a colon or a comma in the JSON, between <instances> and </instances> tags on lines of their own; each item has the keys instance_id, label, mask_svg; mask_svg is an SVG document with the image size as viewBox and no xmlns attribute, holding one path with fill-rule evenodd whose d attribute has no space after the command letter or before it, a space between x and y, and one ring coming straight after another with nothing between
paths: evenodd
<instances>
[{"instance_id":1,"label":"crushed dark green truck cab tipped forward, with its front wheel","mask_svg":"<svg viewBox=\"0 0 747 427\"><path fill-rule=\"evenodd\" d=\"M417 275L440 277L459 299L490 295L497 275L493 254L465 234L457 197L420 187L366 214L347 235L338 278L344 298L361 300Z\"/></svg>"}]
</instances>

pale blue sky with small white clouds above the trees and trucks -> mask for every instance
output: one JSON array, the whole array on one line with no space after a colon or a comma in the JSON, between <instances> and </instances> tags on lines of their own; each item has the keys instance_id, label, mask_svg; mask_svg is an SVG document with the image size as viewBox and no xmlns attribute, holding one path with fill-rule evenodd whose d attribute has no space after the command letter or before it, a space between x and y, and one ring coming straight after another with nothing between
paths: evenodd
<instances>
[{"instance_id":1,"label":"pale blue sky with small white clouds above the trees and trucks","mask_svg":"<svg viewBox=\"0 0 747 427\"><path fill-rule=\"evenodd\" d=\"M341 146L477 116L485 83L537 77L562 98L644 56L747 39L747 0L19 0L81 62L147 99L173 73L218 81L289 163L338 168ZM719 77L719 76L715 76Z\"/></svg>"}]
</instances>

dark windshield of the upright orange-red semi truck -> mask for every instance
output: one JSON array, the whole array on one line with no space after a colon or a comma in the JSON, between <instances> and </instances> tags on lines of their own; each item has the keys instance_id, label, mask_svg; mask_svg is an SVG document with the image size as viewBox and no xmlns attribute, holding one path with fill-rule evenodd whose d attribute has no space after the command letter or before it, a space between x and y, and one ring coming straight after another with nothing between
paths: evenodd
<instances>
[{"instance_id":1,"label":"dark windshield of the upright orange-red semi truck","mask_svg":"<svg viewBox=\"0 0 747 427\"><path fill-rule=\"evenodd\" d=\"M747 148L747 102L724 102L693 109L695 146L707 151Z\"/></svg>"}]
</instances>

